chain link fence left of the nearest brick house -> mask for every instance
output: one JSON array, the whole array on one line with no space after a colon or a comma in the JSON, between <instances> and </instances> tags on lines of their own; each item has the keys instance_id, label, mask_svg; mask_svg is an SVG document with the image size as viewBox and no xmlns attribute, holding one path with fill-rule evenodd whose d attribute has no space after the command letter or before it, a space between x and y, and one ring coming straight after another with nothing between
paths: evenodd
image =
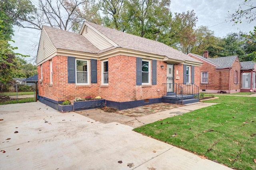
<instances>
[{"instance_id":1,"label":"chain link fence left of the nearest brick house","mask_svg":"<svg viewBox=\"0 0 256 170\"><path fill-rule=\"evenodd\" d=\"M36 102L37 84L0 84L0 105Z\"/></svg>"}]
</instances>

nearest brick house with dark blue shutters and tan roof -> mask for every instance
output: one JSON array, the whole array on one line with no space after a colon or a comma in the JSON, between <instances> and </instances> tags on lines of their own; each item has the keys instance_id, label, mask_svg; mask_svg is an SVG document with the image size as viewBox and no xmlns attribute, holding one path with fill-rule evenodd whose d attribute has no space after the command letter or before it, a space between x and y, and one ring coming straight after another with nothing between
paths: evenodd
<instances>
[{"instance_id":1,"label":"nearest brick house with dark blue shutters and tan roof","mask_svg":"<svg viewBox=\"0 0 256 170\"><path fill-rule=\"evenodd\" d=\"M167 93L177 97L184 84L192 91L202 63L163 43L84 22L80 33L43 26L36 64L40 102L56 108L101 96L106 106L126 109L162 102Z\"/></svg>"}]
</instances>

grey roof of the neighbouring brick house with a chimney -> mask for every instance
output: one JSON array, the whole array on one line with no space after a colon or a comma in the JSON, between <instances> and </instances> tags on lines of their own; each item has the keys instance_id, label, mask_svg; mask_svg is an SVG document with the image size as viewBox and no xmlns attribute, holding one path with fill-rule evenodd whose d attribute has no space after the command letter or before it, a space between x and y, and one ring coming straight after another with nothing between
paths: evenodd
<instances>
[{"instance_id":1,"label":"grey roof of the neighbouring brick house with a chimney","mask_svg":"<svg viewBox=\"0 0 256 170\"><path fill-rule=\"evenodd\" d=\"M226 57L217 57L217 58L205 58L201 55L196 55L193 53L190 53L196 57L198 57L199 59L202 59L208 63L211 63L212 65L216 66L216 68L231 68L234 61L236 59L238 59L237 55L232 55L232 56L226 56Z\"/></svg>"}]
</instances>

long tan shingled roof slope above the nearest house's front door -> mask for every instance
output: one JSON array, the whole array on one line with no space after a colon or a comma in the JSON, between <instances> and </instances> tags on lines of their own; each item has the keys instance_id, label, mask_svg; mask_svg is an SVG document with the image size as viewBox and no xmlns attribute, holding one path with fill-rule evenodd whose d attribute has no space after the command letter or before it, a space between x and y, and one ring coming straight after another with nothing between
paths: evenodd
<instances>
[{"instance_id":1,"label":"long tan shingled roof slope above the nearest house's front door","mask_svg":"<svg viewBox=\"0 0 256 170\"><path fill-rule=\"evenodd\" d=\"M94 27L108 39L116 43L119 47L133 49L146 53L152 53L156 55L162 55L178 61L192 61L196 63L201 63L200 61L188 57L184 53L173 49L172 47L165 45L164 43L124 33L122 31L104 27L102 25L97 25L88 21L86 21L85 24Z\"/></svg>"}]
</instances>

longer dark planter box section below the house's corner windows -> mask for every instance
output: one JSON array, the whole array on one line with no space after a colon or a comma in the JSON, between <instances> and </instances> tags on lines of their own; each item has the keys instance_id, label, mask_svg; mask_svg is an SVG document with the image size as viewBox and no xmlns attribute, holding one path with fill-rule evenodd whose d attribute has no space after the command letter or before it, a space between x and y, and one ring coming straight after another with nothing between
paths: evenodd
<instances>
[{"instance_id":1,"label":"longer dark planter box section below the house's corner windows","mask_svg":"<svg viewBox=\"0 0 256 170\"><path fill-rule=\"evenodd\" d=\"M86 100L86 101L79 101L79 102L71 102L71 104L73 104L74 106L74 111L78 111L78 110L104 107L105 102L106 102L105 99L100 99L100 100Z\"/></svg>"}]
</instances>

